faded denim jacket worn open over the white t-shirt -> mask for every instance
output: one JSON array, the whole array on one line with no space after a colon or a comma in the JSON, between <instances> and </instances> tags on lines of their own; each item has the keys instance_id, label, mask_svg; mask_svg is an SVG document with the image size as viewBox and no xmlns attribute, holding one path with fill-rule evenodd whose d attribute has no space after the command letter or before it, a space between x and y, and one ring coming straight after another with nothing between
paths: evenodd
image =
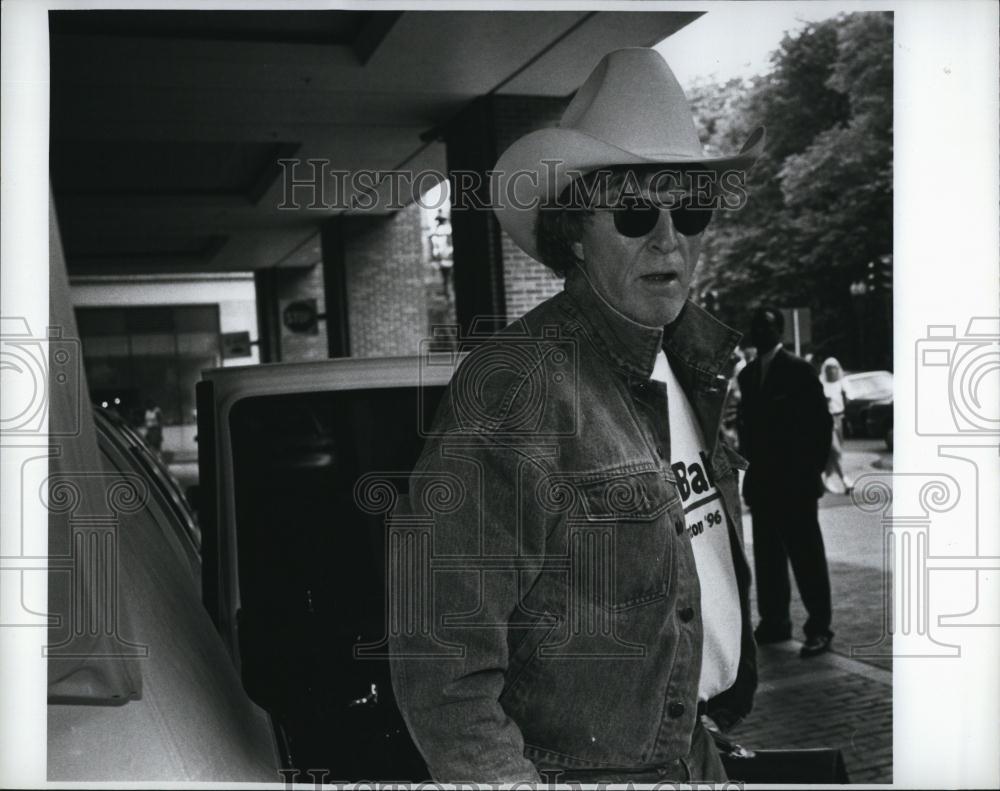
<instances>
[{"instance_id":1,"label":"faded denim jacket worn open over the white t-shirt","mask_svg":"<svg viewBox=\"0 0 1000 791\"><path fill-rule=\"evenodd\" d=\"M722 495L742 609L727 727L757 684L737 469L718 441L739 335L665 330L577 274L459 366L390 525L393 687L434 779L676 765L698 720L702 591L670 468L665 350Z\"/></svg>"}]
</instances>

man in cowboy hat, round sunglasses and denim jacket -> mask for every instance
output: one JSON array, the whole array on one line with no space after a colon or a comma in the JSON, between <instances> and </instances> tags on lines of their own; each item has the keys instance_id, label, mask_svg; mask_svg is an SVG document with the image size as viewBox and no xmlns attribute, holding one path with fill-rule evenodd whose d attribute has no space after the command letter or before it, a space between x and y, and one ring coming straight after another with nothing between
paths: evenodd
<instances>
[{"instance_id":1,"label":"man in cowboy hat, round sunglasses and denim jacket","mask_svg":"<svg viewBox=\"0 0 1000 791\"><path fill-rule=\"evenodd\" d=\"M762 145L706 156L634 48L500 157L501 226L566 285L462 363L401 505L434 565L393 684L436 780L725 779L701 716L756 687L744 462L717 441L739 336L687 297Z\"/></svg>"}]
</instances>

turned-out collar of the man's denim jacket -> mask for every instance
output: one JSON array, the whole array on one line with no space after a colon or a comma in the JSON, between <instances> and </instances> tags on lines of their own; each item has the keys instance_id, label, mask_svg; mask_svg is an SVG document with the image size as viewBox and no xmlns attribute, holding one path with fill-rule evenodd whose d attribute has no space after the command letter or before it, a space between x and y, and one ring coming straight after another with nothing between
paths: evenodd
<instances>
[{"instance_id":1,"label":"turned-out collar of the man's denim jacket","mask_svg":"<svg viewBox=\"0 0 1000 791\"><path fill-rule=\"evenodd\" d=\"M715 379L741 337L690 300L666 327L639 324L611 307L581 271L566 278L566 293L598 348L630 378L648 381L662 348L672 362Z\"/></svg>"}]
</instances>

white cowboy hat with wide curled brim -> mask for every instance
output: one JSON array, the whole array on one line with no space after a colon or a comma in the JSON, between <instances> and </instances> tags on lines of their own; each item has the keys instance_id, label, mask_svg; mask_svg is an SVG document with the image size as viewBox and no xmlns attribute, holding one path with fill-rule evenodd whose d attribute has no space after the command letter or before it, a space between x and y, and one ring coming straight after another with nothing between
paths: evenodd
<instances>
[{"instance_id":1,"label":"white cowboy hat with wide curled brim","mask_svg":"<svg viewBox=\"0 0 1000 791\"><path fill-rule=\"evenodd\" d=\"M687 97L667 62L646 47L619 49L597 64L558 126L525 135L500 156L492 175L493 210L517 245L540 260L535 244L539 204L556 198L576 176L613 165L746 170L763 148L764 128L759 127L738 154L707 156Z\"/></svg>"}]
</instances>

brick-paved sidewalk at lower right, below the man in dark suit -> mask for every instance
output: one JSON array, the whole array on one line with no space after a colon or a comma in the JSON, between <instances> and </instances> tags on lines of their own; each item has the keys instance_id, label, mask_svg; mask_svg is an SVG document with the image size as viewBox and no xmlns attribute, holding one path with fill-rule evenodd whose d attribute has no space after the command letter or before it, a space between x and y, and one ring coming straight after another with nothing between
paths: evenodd
<instances>
[{"instance_id":1,"label":"brick-paved sidewalk at lower right, below the man in dark suit","mask_svg":"<svg viewBox=\"0 0 1000 791\"><path fill-rule=\"evenodd\" d=\"M751 749L839 747L852 783L892 782L892 674L801 643L758 649L753 712L727 734Z\"/></svg>"}]
</instances>

